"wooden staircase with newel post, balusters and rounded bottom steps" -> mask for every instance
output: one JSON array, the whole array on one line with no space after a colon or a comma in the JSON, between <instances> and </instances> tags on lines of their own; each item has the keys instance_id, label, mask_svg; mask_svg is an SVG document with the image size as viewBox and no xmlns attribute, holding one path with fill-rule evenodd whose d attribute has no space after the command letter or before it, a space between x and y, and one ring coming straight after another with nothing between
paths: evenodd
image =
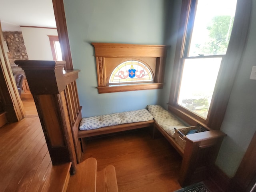
<instances>
[{"instance_id":1,"label":"wooden staircase with newel post, balusters and rounded bottom steps","mask_svg":"<svg viewBox=\"0 0 256 192\"><path fill-rule=\"evenodd\" d=\"M41 191L118 192L114 166L97 172L95 158L79 163L82 106L76 79L80 70L64 70L65 61L16 60L15 64L26 74L52 161L52 172Z\"/></svg>"}]
</instances>

